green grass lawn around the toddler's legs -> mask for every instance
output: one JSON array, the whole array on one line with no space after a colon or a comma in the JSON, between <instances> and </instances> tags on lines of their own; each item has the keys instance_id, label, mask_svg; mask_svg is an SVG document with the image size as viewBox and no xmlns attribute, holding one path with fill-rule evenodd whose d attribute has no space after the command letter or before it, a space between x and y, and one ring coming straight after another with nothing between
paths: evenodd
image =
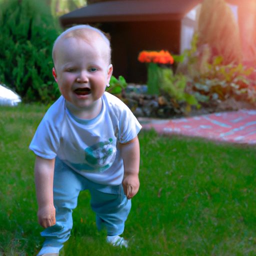
<instances>
[{"instance_id":1,"label":"green grass lawn around the toddler's legs","mask_svg":"<svg viewBox=\"0 0 256 256\"><path fill-rule=\"evenodd\" d=\"M28 145L45 109L0 107L0 256L36 255L42 243ZM141 186L123 233L130 247L105 244L84 191L65 256L256 255L254 147L154 131L139 140Z\"/></svg>"}]
</instances>

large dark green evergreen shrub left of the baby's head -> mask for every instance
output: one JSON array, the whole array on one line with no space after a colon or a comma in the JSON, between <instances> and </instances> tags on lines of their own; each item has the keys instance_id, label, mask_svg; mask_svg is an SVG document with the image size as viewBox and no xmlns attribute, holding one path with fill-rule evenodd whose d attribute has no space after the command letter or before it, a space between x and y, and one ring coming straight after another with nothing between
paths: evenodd
<instances>
[{"instance_id":1,"label":"large dark green evergreen shrub left of the baby's head","mask_svg":"<svg viewBox=\"0 0 256 256\"><path fill-rule=\"evenodd\" d=\"M51 49L59 34L45 1L0 3L0 82L25 102L48 103L59 96L52 78Z\"/></svg>"}]
</instances>

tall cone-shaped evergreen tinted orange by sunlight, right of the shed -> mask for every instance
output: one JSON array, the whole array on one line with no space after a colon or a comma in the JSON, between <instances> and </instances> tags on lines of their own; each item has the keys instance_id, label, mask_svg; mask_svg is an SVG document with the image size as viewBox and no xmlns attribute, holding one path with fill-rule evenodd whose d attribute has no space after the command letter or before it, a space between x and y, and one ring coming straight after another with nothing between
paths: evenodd
<instances>
[{"instance_id":1,"label":"tall cone-shaped evergreen tinted orange by sunlight, right of the shed","mask_svg":"<svg viewBox=\"0 0 256 256\"><path fill-rule=\"evenodd\" d=\"M198 42L200 55L209 48L208 61L222 56L222 64L239 63L241 46L238 24L230 7L224 0L204 0L198 18ZM209 53L209 54L208 54Z\"/></svg>"}]
</instances>

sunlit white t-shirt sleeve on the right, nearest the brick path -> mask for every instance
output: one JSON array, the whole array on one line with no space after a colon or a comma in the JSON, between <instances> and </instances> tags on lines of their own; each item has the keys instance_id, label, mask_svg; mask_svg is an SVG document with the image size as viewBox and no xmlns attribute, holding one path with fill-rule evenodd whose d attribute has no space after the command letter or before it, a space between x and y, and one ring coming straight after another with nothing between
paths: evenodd
<instances>
[{"instance_id":1,"label":"sunlit white t-shirt sleeve on the right, nearest the brick path","mask_svg":"<svg viewBox=\"0 0 256 256\"><path fill-rule=\"evenodd\" d=\"M124 104L124 103L123 103ZM126 143L136 137L142 126L131 110L124 104L119 118L119 142Z\"/></svg>"}]
</instances>

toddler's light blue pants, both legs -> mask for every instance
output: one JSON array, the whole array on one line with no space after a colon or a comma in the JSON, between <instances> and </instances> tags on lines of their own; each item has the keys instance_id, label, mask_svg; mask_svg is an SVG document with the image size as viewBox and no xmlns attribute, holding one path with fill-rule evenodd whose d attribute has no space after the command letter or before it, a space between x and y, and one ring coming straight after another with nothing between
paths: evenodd
<instances>
[{"instance_id":1,"label":"toddler's light blue pants, both legs","mask_svg":"<svg viewBox=\"0 0 256 256\"><path fill-rule=\"evenodd\" d=\"M63 226L52 232L48 227L41 232L45 238L38 255L58 252L68 239L72 228L72 210L77 205L80 191L88 189L91 194L91 209L96 213L96 225L105 227L108 235L123 232L124 221L130 211L131 202L124 194L122 185L110 186L94 183L73 171L56 157L53 180L53 201L56 209L56 222ZM54 226L53 226L54 227Z\"/></svg>"}]
</instances>

